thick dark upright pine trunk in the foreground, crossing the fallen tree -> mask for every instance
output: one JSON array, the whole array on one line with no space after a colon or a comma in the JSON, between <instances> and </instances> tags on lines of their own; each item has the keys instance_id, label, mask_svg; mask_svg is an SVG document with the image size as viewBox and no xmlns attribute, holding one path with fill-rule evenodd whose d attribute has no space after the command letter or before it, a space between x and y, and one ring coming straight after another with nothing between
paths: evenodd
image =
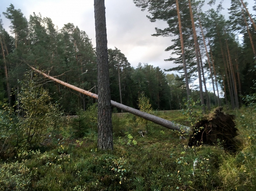
<instances>
[{"instance_id":1,"label":"thick dark upright pine trunk in the foreground, crossing the fallen tree","mask_svg":"<svg viewBox=\"0 0 256 191\"><path fill-rule=\"evenodd\" d=\"M113 150L107 29L104 0L94 0L98 68L98 148Z\"/></svg>"}]
</instances>

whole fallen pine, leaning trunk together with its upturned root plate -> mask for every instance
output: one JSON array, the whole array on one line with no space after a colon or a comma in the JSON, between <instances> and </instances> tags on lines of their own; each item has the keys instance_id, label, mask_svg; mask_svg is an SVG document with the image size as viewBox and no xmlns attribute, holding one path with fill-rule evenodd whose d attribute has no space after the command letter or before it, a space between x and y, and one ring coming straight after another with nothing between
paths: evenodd
<instances>
[{"instance_id":1,"label":"whole fallen pine, leaning trunk together with its upturned root plate","mask_svg":"<svg viewBox=\"0 0 256 191\"><path fill-rule=\"evenodd\" d=\"M52 76L49 76L46 73L34 68L33 66L28 66L34 71L59 84L62 84L68 88L71 88L92 98L98 99L97 94L83 90L66 82L63 82L59 79L56 79ZM234 116L224 114L222 112L222 107L216 108L213 113L210 113L209 115L205 116L193 128L190 128L180 124L175 124L171 121L151 115L149 113L131 108L129 106L120 104L113 100L111 100L111 104L119 109L132 113L136 116L142 117L146 120L154 122L170 130L179 131L182 134L190 134L188 142L189 146L200 144L217 145L221 143L223 144L223 147L226 149L234 149L236 147L236 141L234 140L234 138L238 134L237 128L235 128L235 123L233 122Z\"/></svg>"}]
</instances>

